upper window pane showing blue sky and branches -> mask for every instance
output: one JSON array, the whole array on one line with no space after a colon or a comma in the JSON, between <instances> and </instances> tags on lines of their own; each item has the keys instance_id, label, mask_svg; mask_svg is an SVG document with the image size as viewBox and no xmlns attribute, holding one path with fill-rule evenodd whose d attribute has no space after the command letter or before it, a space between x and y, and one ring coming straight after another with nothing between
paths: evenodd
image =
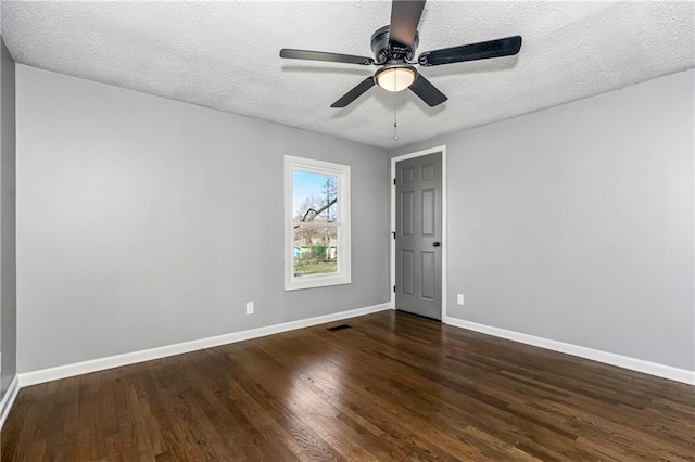
<instances>
[{"instance_id":1,"label":"upper window pane showing blue sky and branches","mask_svg":"<svg viewBox=\"0 0 695 462\"><path fill-rule=\"evenodd\" d=\"M338 177L293 171L292 187L292 210L295 220L338 220Z\"/></svg>"}]
</instances>

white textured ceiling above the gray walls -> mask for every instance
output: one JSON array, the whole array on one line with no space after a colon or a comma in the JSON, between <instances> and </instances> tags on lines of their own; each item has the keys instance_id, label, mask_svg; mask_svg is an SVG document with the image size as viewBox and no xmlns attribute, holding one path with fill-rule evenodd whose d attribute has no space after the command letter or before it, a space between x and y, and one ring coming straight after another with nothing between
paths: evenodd
<instances>
[{"instance_id":1,"label":"white textured ceiling above the gray walls","mask_svg":"<svg viewBox=\"0 0 695 462\"><path fill-rule=\"evenodd\" d=\"M330 104L376 67L281 60L281 48L371 56L391 4L10 2L18 63L306 130L393 147L695 67L693 2L429 1L422 51L521 35L517 56L422 69L448 101L375 87Z\"/></svg>"}]
</instances>

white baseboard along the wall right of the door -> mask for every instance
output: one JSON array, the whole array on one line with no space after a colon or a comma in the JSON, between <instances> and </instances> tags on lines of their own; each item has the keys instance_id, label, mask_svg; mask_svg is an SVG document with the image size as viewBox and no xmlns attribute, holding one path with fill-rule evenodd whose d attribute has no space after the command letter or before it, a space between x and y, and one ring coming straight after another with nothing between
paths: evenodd
<instances>
[{"instance_id":1,"label":"white baseboard along the wall right of the door","mask_svg":"<svg viewBox=\"0 0 695 462\"><path fill-rule=\"evenodd\" d=\"M463 319L446 317L443 322L456 328L468 329L470 331L480 332L495 337L506 338L527 345L551 349L567 355L577 356L593 361L604 362L606 364L617 365L632 371L643 372L649 375L681 382L688 385L695 385L695 371L686 369L673 368L671 365L659 364L657 362L645 361L643 359L630 358L628 356L616 355L614 352L602 351L598 349L586 348L579 345L567 344L564 342L551 341L548 338L536 337L520 332L507 331L505 329L493 328L491 325L478 324L477 322L464 321Z\"/></svg>"}]
</instances>

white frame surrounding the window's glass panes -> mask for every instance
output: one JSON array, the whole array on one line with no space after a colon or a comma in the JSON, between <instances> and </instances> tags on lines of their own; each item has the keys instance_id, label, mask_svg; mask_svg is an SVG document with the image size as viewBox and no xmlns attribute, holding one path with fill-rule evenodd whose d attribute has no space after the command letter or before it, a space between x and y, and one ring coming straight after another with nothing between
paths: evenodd
<instances>
[{"instance_id":1,"label":"white frame surrounding the window's glass panes","mask_svg":"<svg viewBox=\"0 0 695 462\"><path fill-rule=\"evenodd\" d=\"M292 178L294 171L331 175L338 179L338 271L331 274L294 275L294 219L292 195L294 187ZM302 288L326 287L330 285L350 284L351 242L350 242L350 166L312 158L285 156L285 290L298 291ZM316 226L326 226L317 222ZM306 226L306 224L304 224Z\"/></svg>"}]
</instances>

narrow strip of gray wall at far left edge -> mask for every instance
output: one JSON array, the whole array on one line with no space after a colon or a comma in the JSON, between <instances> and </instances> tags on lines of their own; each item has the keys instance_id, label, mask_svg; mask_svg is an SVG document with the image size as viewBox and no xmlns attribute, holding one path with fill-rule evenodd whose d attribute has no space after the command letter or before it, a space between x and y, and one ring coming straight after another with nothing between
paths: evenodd
<instances>
[{"instance_id":1,"label":"narrow strip of gray wall at far left edge","mask_svg":"<svg viewBox=\"0 0 695 462\"><path fill-rule=\"evenodd\" d=\"M14 61L0 38L0 397L16 374Z\"/></svg>"}]
</instances>

